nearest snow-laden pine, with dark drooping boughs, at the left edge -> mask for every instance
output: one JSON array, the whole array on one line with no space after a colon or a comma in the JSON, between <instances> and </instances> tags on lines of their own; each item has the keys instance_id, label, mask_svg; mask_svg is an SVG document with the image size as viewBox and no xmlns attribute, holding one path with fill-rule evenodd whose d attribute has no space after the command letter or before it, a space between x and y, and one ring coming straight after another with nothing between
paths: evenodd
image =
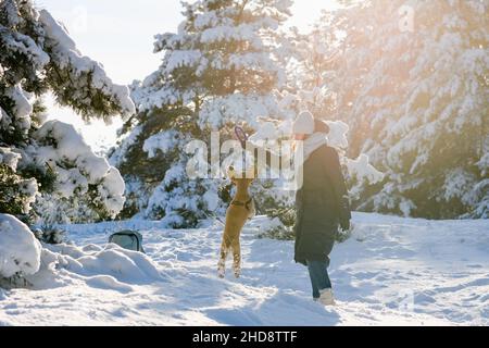
<instances>
[{"instance_id":1,"label":"nearest snow-laden pine, with dark drooping boughs, at the left edge","mask_svg":"<svg viewBox=\"0 0 489 348\"><path fill-rule=\"evenodd\" d=\"M124 203L121 175L73 126L46 122L48 91L86 120L135 110L127 87L83 57L48 11L1 0L0 213L45 222L113 217Z\"/></svg>"}]
</instances>

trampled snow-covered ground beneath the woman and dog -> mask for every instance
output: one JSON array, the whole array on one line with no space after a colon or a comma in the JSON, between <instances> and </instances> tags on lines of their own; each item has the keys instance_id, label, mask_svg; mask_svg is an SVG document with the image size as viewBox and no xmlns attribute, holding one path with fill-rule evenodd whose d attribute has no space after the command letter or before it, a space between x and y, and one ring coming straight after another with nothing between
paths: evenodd
<instances>
[{"instance_id":1,"label":"trampled snow-covered ground beneath the woman and dog","mask_svg":"<svg viewBox=\"0 0 489 348\"><path fill-rule=\"evenodd\" d=\"M75 246L43 250L32 289L0 289L3 325L452 325L489 324L489 221L354 213L330 276L338 306L311 300L293 243L241 235L242 277L216 276L221 225L163 229L128 221L70 226ZM105 249L137 228L148 257Z\"/></svg>"}]
</instances>

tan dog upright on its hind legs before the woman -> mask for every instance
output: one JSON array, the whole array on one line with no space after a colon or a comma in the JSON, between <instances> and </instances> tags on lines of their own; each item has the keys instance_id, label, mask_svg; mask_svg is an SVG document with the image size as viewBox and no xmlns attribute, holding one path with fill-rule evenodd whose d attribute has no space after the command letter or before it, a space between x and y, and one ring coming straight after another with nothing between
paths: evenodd
<instances>
[{"instance_id":1,"label":"tan dog upright on its hind legs before the woman","mask_svg":"<svg viewBox=\"0 0 489 348\"><path fill-rule=\"evenodd\" d=\"M254 176L249 176L247 173L238 175L233 166L228 169L228 177L231 183L236 185L236 195L233 198L227 211L226 222L224 225L223 241L221 244L221 258L217 263L217 274L221 278L225 275L226 259L230 252L233 252L233 270L235 277L239 277L241 274L241 247L239 238L241 229L248 219L253 217L254 202L248 192L248 188L253 182ZM248 173L249 174L249 173Z\"/></svg>"}]
</instances>

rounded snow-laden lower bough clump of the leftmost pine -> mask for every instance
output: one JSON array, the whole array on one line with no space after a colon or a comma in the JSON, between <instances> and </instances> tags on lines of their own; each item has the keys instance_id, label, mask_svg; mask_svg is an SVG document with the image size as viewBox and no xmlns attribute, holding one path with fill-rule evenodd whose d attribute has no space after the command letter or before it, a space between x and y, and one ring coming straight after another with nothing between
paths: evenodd
<instances>
[{"instance_id":1,"label":"rounded snow-laden lower bough clump of the leftmost pine","mask_svg":"<svg viewBox=\"0 0 489 348\"><path fill-rule=\"evenodd\" d=\"M124 206L124 181L72 125L49 121L33 137L37 147L25 150L25 162L46 164L57 174L52 190L38 199L36 212L40 216L51 222L115 217Z\"/></svg>"}]
</instances>

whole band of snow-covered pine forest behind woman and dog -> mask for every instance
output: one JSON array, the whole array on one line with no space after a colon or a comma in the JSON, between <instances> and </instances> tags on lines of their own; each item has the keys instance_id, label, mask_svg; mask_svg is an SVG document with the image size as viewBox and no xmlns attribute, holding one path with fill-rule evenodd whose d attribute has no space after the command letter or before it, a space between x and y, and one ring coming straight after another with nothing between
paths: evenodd
<instances>
[{"instance_id":1,"label":"whole band of snow-covered pine forest behind woman and dog","mask_svg":"<svg viewBox=\"0 0 489 348\"><path fill-rule=\"evenodd\" d=\"M137 215L193 226L224 211L229 187L188 181L185 144L308 109L346 123L344 154L385 174L375 185L350 175L354 209L488 217L487 1L338 1L301 32L285 25L291 4L184 3L175 32L155 33L160 67L127 89L42 3L3 0L0 211L41 224ZM122 117L116 145L96 154L50 117L47 94L86 121ZM274 183L255 186L261 213L290 206Z\"/></svg>"}]
</instances>

